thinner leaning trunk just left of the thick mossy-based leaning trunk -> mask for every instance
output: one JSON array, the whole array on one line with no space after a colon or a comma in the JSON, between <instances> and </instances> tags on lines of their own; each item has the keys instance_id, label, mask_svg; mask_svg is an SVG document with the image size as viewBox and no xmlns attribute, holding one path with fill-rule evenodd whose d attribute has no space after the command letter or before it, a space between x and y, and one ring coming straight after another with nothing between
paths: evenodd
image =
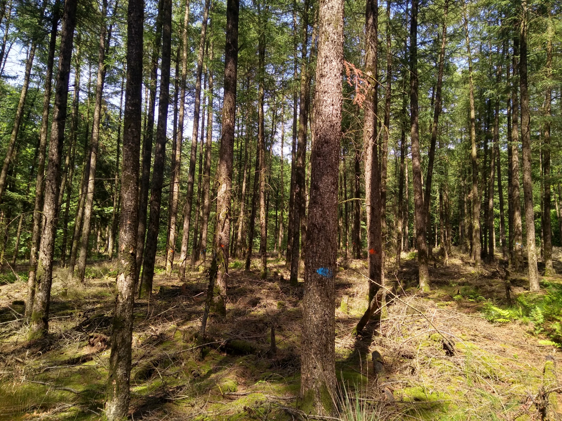
<instances>
[{"instance_id":1,"label":"thinner leaning trunk just left of the thick mossy-based leaning trunk","mask_svg":"<svg viewBox=\"0 0 562 421\"><path fill-rule=\"evenodd\" d=\"M10 3L11 4L11 3ZM52 17L51 35L49 38L49 51L47 55L47 70L45 75L45 85L43 93L43 113L41 117L41 127L39 129L39 156L37 164L37 180L35 181L35 204L33 209L33 228L31 232L31 249L29 252L29 276L28 276L28 294L25 300L25 317L31 317L33 311L33 300L35 296L35 277L37 274L37 259L39 251L41 221L42 221L42 207L43 207L43 191L44 191L44 177L45 177L45 153L47 150L47 131L49 124L49 108L51 104L51 85L53 79L53 63L55 61L55 49L57 43L57 29L58 29L58 10L60 3L56 4L55 14ZM80 84L80 77L76 79L75 84Z\"/></svg>"}]
</instances>

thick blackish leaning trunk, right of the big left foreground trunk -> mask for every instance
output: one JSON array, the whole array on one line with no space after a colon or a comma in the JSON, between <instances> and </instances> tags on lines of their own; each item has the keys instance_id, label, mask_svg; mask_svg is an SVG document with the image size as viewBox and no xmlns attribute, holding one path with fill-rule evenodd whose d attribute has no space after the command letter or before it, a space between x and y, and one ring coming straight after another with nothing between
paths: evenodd
<instances>
[{"instance_id":1,"label":"thick blackish leaning trunk, right of the big left foreground trunk","mask_svg":"<svg viewBox=\"0 0 562 421\"><path fill-rule=\"evenodd\" d=\"M170 63L171 63L171 0L164 0L162 5L162 67L160 70L160 97L158 98L158 123L156 125L156 145L152 165L152 189L150 194L150 216L146 246L143 255L142 278L139 297L150 296L158 245L158 227L160 225L160 205L162 202L162 185L164 184L164 165L166 160L166 129L168 105L170 102Z\"/></svg>"}]
</instances>

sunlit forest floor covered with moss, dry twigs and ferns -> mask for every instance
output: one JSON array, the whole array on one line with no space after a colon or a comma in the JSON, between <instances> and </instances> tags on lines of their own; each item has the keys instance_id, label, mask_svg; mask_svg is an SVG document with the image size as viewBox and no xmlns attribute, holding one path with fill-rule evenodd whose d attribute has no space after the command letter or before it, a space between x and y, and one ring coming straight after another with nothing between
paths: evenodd
<instances>
[{"instance_id":1,"label":"sunlit forest floor covered with moss, dry twigs and ferns","mask_svg":"<svg viewBox=\"0 0 562 421\"><path fill-rule=\"evenodd\" d=\"M562 273L562 251L555 256ZM284 260L268 260L266 280L259 279L258 260L252 263L249 272L238 260L230 263L228 312L211 314L205 346L197 336L206 269L180 283L157 267L152 298L134 306L132 419L307 418L296 409L302 285L286 281ZM84 285L56 269L51 335L39 343L26 341L25 271L8 268L0 278L0 420L101 418L115 262L93 262ZM541 293L531 294L525 277L512 275L508 305L502 269L484 264L476 271L457 251L447 266L436 259L429 294L415 288L416 272L415 253L402 255L400 271L388 263L396 295L387 296L382 321L356 337L353 327L367 305L366 262L339 268L334 400L340 409L331 419L562 418L562 277L543 277ZM445 350L444 337L454 353ZM378 375L373 350L384 360Z\"/></svg>"}]
</instances>

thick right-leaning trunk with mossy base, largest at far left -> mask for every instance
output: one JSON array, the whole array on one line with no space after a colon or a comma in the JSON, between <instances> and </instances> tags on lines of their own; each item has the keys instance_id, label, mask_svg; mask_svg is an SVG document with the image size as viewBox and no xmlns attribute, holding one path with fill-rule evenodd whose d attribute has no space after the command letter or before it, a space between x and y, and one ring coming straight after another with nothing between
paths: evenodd
<instances>
[{"instance_id":1,"label":"thick right-leaning trunk with mossy base, largest at far left","mask_svg":"<svg viewBox=\"0 0 562 421\"><path fill-rule=\"evenodd\" d=\"M66 0L62 17L60 40L60 57L58 60L57 84L55 88L55 107L53 107L53 124L49 143L49 159L45 175L43 204L44 229L39 245L37 264L36 293L31 314L29 338L40 338L49 331L49 304L51 300L51 282L53 260L55 257L55 236L57 232L57 200L61 179L62 145L66 122L66 104L68 100L70 58L76 23L76 0Z\"/></svg>"}]
</instances>

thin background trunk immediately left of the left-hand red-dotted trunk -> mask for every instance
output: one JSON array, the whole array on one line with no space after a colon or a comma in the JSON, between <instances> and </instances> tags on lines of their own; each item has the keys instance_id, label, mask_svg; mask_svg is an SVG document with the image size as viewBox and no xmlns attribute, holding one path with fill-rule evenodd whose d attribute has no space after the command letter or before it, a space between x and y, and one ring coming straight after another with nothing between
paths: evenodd
<instances>
[{"instance_id":1,"label":"thin background trunk immediately left of the left-hand red-dotted trunk","mask_svg":"<svg viewBox=\"0 0 562 421\"><path fill-rule=\"evenodd\" d=\"M213 61L213 40L211 39L209 52L209 63ZM199 241L198 255L205 262L207 254L207 233L209 232L209 213L210 213L210 186L211 186L211 146L212 146L212 95L213 95L213 79L212 66L209 66L209 107L207 109L207 143L205 145L205 171L203 172L203 211L201 217L201 241Z\"/></svg>"}]
</instances>

